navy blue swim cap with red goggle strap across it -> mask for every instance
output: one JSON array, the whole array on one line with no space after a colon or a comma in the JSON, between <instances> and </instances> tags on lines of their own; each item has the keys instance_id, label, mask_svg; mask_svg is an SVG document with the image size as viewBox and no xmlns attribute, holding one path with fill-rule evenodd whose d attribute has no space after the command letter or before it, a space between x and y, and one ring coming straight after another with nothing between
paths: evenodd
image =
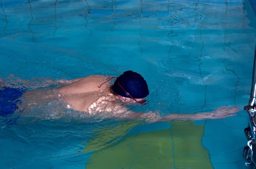
<instances>
[{"instance_id":1,"label":"navy blue swim cap with red goggle strap across it","mask_svg":"<svg viewBox=\"0 0 256 169\"><path fill-rule=\"evenodd\" d=\"M112 86L112 89L120 96L131 98L127 94L129 93L134 99L143 99L149 94L147 82L139 73L131 70L128 70L119 76Z\"/></svg>"}]
</instances>

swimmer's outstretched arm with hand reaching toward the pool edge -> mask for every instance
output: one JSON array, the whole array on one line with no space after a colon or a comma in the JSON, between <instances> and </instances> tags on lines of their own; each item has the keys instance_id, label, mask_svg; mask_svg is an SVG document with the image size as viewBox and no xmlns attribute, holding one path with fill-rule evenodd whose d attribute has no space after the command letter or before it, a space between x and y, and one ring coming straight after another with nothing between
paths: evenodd
<instances>
[{"instance_id":1,"label":"swimmer's outstretched arm with hand reaching toward the pool edge","mask_svg":"<svg viewBox=\"0 0 256 169\"><path fill-rule=\"evenodd\" d=\"M141 115L141 118L144 118L146 121L150 123L154 122L166 122L166 121L197 121L197 120L207 120L207 119L221 119L227 118L236 115L235 113L239 112L237 106L228 107L228 105L219 107L212 112L207 113L195 113L195 114L170 114L164 117L157 116L156 113L144 113Z\"/></svg>"}]
</instances>

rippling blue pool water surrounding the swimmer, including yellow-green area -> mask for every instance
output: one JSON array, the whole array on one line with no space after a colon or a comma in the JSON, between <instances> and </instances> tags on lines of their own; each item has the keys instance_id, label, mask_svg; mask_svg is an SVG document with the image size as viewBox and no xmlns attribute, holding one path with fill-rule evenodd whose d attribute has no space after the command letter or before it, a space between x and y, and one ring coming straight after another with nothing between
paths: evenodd
<instances>
[{"instance_id":1,"label":"rippling blue pool water surrounding the swimmer, including yellow-green area","mask_svg":"<svg viewBox=\"0 0 256 169\"><path fill-rule=\"evenodd\" d=\"M248 103L256 20L247 0L1 0L1 8L0 78L33 79L22 85L36 88L45 78L134 70L150 89L149 104L134 111L201 113ZM1 169L246 168L242 110L149 125L2 123Z\"/></svg>"}]
</instances>

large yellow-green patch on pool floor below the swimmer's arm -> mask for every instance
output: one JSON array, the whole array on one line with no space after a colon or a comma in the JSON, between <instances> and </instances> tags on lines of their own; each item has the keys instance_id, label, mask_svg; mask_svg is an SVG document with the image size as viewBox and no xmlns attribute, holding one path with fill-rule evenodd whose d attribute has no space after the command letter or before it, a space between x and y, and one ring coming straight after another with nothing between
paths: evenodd
<instances>
[{"instance_id":1,"label":"large yellow-green patch on pool floor below the swimmer's arm","mask_svg":"<svg viewBox=\"0 0 256 169\"><path fill-rule=\"evenodd\" d=\"M94 153L86 169L213 169L203 134L204 125L172 122L167 130L132 135Z\"/></svg>"}]
</instances>

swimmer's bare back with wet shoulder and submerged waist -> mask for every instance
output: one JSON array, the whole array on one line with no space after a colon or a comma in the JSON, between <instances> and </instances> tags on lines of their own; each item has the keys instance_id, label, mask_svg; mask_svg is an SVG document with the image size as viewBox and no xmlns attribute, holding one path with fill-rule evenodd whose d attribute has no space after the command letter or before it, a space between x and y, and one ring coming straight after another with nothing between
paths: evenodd
<instances>
[{"instance_id":1,"label":"swimmer's bare back with wet shoulder and submerged waist","mask_svg":"<svg viewBox=\"0 0 256 169\"><path fill-rule=\"evenodd\" d=\"M70 108L83 114L96 115L125 112L126 107L120 106L118 96L111 93L109 76L91 75L79 79L59 80L64 86L55 89L43 88L31 90L23 94L23 105L26 110L32 110L36 106L52 100L64 100L66 108ZM105 83L106 82L106 83ZM103 84L104 83L104 84ZM103 84L103 85L102 85ZM99 88L100 86L100 88ZM84 115L85 115L84 114Z\"/></svg>"}]
</instances>

